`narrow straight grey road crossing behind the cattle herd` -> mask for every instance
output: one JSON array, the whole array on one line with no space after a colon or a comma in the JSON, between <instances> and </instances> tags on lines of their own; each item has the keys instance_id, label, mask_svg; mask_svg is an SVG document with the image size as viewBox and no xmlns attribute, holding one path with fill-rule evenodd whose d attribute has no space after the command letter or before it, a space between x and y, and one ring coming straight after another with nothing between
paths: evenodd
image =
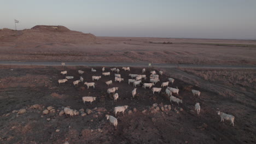
<instances>
[{"instance_id":1,"label":"narrow straight grey road crossing behind the cattle herd","mask_svg":"<svg viewBox=\"0 0 256 144\"><path fill-rule=\"evenodd\" d=\"M63 62L65 66L88 67L148 67L148 63L116 63L116 62ZM0 61L0 65L44 65L60 66L62 62L22 62ZM256 69L256 65L196 65L196 64L167 64L154 63L155 68L213 68L213 69Z\"/></svg>"}]
</instances>

